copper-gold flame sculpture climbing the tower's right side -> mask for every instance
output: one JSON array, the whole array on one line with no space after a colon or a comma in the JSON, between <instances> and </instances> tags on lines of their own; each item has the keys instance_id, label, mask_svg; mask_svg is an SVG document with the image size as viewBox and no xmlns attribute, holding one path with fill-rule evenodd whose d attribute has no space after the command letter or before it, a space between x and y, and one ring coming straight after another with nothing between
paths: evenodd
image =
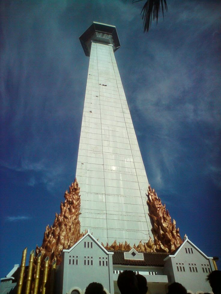
<instances>
[{"instance_id":1,"label":"copper-gold flame sculpture climbing the tower's right side","mask_svg":"<svg viewBox=\"0 0 221 294\"><path fill-rule=\"evenodd\" d=\"M179 228L176 229L176 222L171 222L171 216L166 210L165 204L162 205L160 198L150 185L147 190L147 205L149 207L148 215L153 220L151 229L154 237L156 251L173 252L179 247L183 240L180 237Z\"/></svg>"}]
</instances>

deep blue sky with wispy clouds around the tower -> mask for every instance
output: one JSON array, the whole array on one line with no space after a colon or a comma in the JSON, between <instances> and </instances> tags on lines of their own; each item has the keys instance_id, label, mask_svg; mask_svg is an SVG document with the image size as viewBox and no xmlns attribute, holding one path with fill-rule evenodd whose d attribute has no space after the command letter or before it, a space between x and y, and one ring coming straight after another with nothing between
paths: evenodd
<instances>
[{"instance_id":1,"label":"deep blue sky with wispy clouds around the tower","mask_svg":"<svg viewBox=\"0 0 221 294\"><path fill-rule=\"evenodd\" d=\"M89 58L78 37L116 25L115 53L144 166L180 234L221 258L220 1L2 1L0 276L41 245L74 181ZM221 269L221 263L218 263Z\"/></svg>"}]
</instances>

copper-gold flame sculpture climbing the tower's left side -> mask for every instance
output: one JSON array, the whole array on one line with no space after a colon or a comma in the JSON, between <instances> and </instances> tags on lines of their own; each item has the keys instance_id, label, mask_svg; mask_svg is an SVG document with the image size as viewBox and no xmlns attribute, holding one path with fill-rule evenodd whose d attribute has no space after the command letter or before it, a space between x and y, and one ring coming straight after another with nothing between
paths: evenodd
<instances>
[{"instance_id":1,"label":"copper-gold flame sculpture climbing the tower's left side","mask_svg":"<svg viewBox=\"0 0 221 294\"><path fill-rule=\"evenodd\" d=\"M61 263L63 249L71 248L85 233L80 233L80 188L77 180L69 186L65 192L65 202L61 203L61 212L55 214L55 220L51 227L47 225L41 247L36 247L35 255L41 252L43 258L49 257L49 264L54 259L57 265Z\"/></svg>"}]
</instances>

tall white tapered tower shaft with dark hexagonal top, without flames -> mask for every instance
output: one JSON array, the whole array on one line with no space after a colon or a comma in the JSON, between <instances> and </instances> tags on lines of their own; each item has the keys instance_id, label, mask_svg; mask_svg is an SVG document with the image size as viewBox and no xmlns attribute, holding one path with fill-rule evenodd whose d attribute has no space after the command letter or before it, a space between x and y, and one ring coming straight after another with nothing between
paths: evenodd
<instances>
[{"instance_id":1,"label":"tall white tapered tower shaft with dark hexagonal top, without flames","mask_svg":"<svg viewBox=\"0 0 221 294\"><path fill-rule=\"evenodd\" d=\"M99 22L82 34L90 57L76 177L81 230L99 242L149 240L148 180L114 52L116 27Z\"/></svg>"}]
</instances>

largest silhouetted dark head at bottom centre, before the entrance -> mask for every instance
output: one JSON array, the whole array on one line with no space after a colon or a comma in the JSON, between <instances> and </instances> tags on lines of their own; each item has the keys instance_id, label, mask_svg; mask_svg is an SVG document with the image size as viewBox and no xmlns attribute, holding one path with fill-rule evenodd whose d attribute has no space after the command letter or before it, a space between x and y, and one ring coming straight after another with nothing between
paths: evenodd
<instances>
[{"instance_id":1,"label":"largest silhouetted dark head at bottom centre, before the entrance","mask_svg":"<svg viewBox=\"0 0 221 294\"><path fill-rule=\"evenodd\" d=\"M117 279L121 294L139 294L138 281L133 271L123 271Z\"/></svg>"}]
</instances>

